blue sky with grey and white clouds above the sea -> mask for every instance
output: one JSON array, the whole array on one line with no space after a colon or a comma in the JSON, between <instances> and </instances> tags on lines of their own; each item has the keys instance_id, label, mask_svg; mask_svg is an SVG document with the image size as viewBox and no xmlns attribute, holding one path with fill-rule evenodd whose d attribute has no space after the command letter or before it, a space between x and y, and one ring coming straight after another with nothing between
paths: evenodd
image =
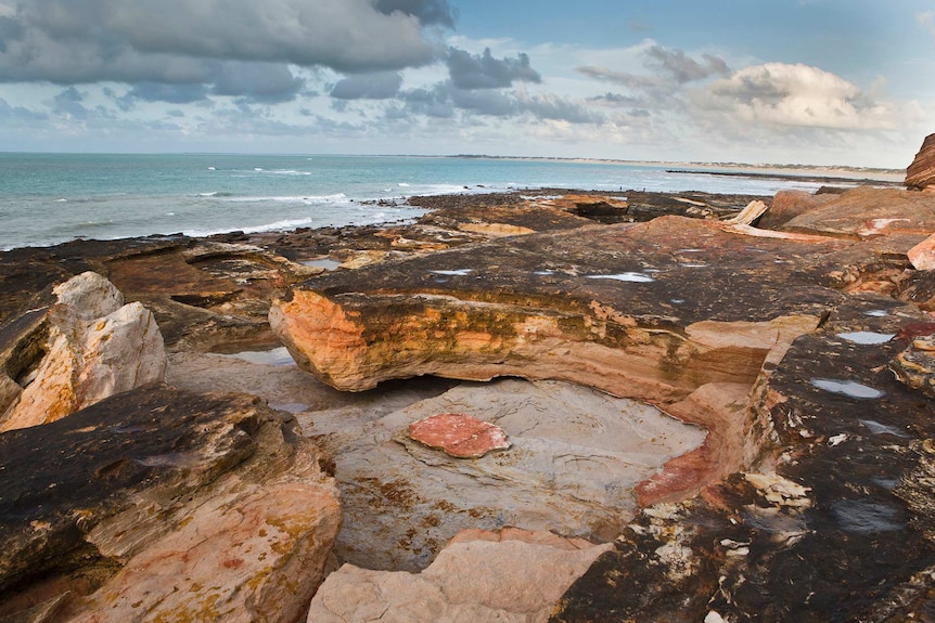
<instances>
[{"instance_id":1,"label":"blue sky with grey and white clouds above the sea","mask_svg":"<svg viewBox=\"0 0 935 623\"><path fill-rule=\"evenodd\" d=\"M935 0L0 0L0 151L906 168Z\"/></svg>"}]
</instances>

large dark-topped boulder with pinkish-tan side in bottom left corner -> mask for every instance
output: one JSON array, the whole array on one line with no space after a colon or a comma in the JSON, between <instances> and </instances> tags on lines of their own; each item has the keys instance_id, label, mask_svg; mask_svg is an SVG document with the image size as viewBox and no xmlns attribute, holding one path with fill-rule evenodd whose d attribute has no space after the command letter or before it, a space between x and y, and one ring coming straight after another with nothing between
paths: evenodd
<instances>
[{"instance_id":1,"label":"large dark-topped boulder with pinkish-tan side in bottom left corner","mask_svg":"<svg viewBox=\"0 0 935 623\"><path fill-rule=\"evenodd\" d=\"M0 615L295 621L341 523L319 459L255 398L159 385L0 434Z\"/></svg>"}]
</instances>

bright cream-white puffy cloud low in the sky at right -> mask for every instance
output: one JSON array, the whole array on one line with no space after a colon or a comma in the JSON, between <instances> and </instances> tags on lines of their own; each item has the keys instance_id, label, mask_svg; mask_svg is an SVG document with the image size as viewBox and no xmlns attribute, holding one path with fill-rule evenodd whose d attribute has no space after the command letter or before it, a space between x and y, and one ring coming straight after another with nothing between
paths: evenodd
<instances>
[{"instance_id":1,"label":"bright cream-white puffy cloud low in the sky at right","mask_svg":"<svg viewBox=\"0 0 935 623\"><path fill-rule=\"evenodd\" d=\"M891 105L840 76L802 64L745 67L695 93L693 103L703 114L734 122L861 131L898 125Z\"/></svg>"}]
</instances>

